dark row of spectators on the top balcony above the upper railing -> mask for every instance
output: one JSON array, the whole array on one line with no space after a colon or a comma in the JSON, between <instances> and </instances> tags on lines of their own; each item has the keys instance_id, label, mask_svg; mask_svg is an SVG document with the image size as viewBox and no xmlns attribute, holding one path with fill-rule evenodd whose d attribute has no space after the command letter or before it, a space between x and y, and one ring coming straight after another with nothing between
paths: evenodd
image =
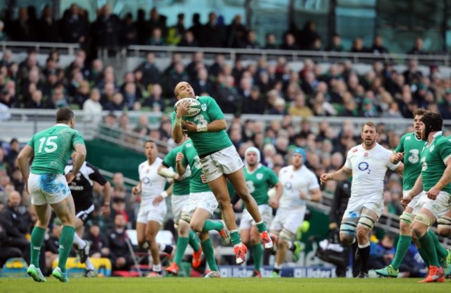
<instances>
[{"instance_id":1,"label":"dark row of spectators on the top balcony above the upper railing","mask_svg":"<svg viewBox=\"0 0 451 293\"><path fill-rule=\"evenodd\" d=\"M12 15L12 14L10 14ZM39 15L39 16L38 16ZM96 20L89 21L87 10L76 3L65 10L60 19L55 19L52 6L44 6L37 12L34 6L19 8L17 19L6 18L0 21L0 41L14 40L26 42L67 42L78 43L91 51L96 48L119 48L130 44L150 44L155 46L179 47L225 47L242 49L283 49L308 51L349 51L355 53L389 53L384 47L382 37L375 36L372 44L355 38L352 47L345 48L338 34L330 40L316 30L316 23L307 20L303 28L290 24L289 29L277 40L275 33L265 35L260 44L253 29L243 23L241 15L233 17L226 24L222 15L210 12L207 22L201 22L201 15L194 12L192 26L185 25L185 13L177 15L176 24L167 24L167 16L161 15L158 8L152 8L146 19L146 11L139 9L137 19L128 12L123 19L112 14L105 4L96 10ZM95 51L95 50L94 50ZM423 48L423 40L417 38L409 54L429 54Z\"/></svg>"}]
</instances>

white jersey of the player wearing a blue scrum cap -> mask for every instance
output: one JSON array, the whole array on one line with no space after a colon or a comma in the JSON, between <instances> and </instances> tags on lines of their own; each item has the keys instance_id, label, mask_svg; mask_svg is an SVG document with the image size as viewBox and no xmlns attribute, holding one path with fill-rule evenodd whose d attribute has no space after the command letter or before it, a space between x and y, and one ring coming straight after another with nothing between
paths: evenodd
<instances>
[{"instance_id":1,"label":"white jersey of the player wearing a blue scrum cap","mask_svg":"<svg viewBox=\"0 0 451 293\"><path fill-rule=\"evenodd\" d=\"M310 190L319 188L318 178L305 165L298 170L293 169L293 165L283 167L279 171L279 181L284 187L282 197L280 197L280 208L299 208L305 205L305 200L300 198L303 192L309 196Z\"/></svg>"}]
</instances>

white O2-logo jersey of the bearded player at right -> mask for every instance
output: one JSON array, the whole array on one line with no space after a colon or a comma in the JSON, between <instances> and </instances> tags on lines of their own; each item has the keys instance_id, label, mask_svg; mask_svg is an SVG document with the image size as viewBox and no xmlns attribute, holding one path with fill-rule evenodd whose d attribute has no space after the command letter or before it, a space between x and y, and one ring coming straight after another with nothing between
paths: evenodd
<instances>
[{"instance_id":1,"label":"white O2-logo jersey of the bearded player at right","mask_svg":"<svg viewBox=\"0 0 451 293\"><path fill-rule=\"evenodd\" d=\"M380 195L384 192L384 178L387 169L396 169L398 164L390 162L392 151L376 143L367 151L362 144L348 151L345 167L352 169L351 196Z\"/></svg>"}]
</instances>

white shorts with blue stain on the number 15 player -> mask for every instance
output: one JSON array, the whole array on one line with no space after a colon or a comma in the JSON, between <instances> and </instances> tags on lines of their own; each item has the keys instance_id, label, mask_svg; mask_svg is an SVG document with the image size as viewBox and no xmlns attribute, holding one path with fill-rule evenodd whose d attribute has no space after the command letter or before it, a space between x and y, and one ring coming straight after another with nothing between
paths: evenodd
<instances>
[{"instance_id":1,"label":"white shorts with blue stain on the number 15 player","mask_svg":"<svg viewBox=\"0 0 451 293\"><path fill-rule=\"evenodd\" d=\"M66 177L62 174L30 174L28 192L35 206L59 203L71 195Z\"/></svg>"}]
</instances>

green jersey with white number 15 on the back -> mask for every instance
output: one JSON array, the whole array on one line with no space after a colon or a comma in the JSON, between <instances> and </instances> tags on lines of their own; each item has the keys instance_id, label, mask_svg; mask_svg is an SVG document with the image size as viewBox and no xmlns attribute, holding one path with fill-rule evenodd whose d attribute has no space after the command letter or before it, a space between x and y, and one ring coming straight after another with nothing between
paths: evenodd
<instances>
[{"instance_id":1,"label":"green jersey with white number 15 on the back","mask_svg":"<svg viewBox=\"0 0 451 293\"><path fill-rule=\"evenodd\" d=\"M35 133L28 142L35 151L31 173L64 174L76 144L85 144L83 136L67 124L56 124Z\"/></svg>"}]
</instances>

